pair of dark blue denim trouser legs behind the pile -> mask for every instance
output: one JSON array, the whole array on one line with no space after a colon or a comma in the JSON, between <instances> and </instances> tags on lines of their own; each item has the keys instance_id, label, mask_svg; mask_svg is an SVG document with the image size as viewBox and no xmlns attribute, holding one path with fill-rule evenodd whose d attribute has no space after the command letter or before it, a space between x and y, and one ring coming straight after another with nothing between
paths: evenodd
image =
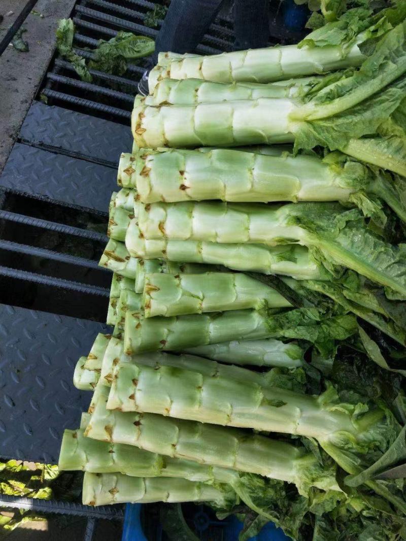
<instances>
[{"instance_id":1,"label":"pair of dark blue denim trouser legs behind the pile","mask_svg":"<svg viewBox=\"0 0 406 541\"><path fill-rule=\"evenodd\" d=\"M223 0L172 0L155 41L158 52L194 52ZM265 47L269 38L269 0L234 0L234 50Z\"/></svg>"}]
</instances>

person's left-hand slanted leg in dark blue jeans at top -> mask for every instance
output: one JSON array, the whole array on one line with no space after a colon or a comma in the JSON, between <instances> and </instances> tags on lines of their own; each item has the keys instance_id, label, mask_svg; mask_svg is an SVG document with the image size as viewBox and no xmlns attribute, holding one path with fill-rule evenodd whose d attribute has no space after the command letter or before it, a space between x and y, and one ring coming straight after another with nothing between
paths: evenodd
<instances>
[{"instance_id":1,"label":"person's left-hand slanted leg in dark blue jeans at top","mask_svg":"<svg viewBox=\"0 0 406 541\"><path fill-rule=\"evenodd\" d=\"M159 52L194 52L218 14L223 0L172 0L155 41Z\"/></svg>"}]
</instances>

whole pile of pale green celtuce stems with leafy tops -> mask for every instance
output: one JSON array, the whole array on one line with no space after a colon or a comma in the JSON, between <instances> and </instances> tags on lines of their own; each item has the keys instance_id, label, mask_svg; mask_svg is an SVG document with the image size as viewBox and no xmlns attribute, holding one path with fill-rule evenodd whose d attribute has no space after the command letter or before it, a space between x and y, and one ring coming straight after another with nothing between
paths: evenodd
<instances>
[{"instance_id":1,"label":"whole pile of pale green celtuce stems with leafy tops","mask_svg":"<svg viewBox=\"0 0 406 541\"><path fill-rule=\"evenodd\" d=\"M93 398L62 442L84 503L406 539L405 4L160 54L100 261L114 330L78 360Z\"/></svg>"}]
</instances>

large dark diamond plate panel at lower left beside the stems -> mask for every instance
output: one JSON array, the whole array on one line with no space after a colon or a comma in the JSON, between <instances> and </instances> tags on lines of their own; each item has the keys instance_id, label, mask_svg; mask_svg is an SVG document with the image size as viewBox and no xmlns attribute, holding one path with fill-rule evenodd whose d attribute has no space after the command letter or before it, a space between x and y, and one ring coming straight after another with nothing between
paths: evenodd
<instances>
[{"instance_id":1,"label":"large dark diamond plate panel at lower left beside the stems","mask_svg":"<svg viewBox=\"0 0 406 541\"><path fill-rule=\"evenodd\" d=\"M65 428L79 426L90 393L76 361L106 325L0 304L0 456L56 463Z\"/></svg>"}]
</instances>

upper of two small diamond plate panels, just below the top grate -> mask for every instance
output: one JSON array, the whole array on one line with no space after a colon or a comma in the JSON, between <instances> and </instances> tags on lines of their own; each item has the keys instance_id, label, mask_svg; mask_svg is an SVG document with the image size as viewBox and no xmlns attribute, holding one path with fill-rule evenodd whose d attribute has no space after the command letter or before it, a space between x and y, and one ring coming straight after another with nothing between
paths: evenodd
<instances>
[{"instance_id":1,"label":"upper of two small diamond plate panels, just below the top grate","mask_svg":"<svg viewBox=\"0 0 406 541\"><path fill-rule=\"evenodd\" d=\"M133 144L129 126L41 102L32 103L19 137L114 165L122 152L131 151Z\"/></svg>"}]
</instances>

